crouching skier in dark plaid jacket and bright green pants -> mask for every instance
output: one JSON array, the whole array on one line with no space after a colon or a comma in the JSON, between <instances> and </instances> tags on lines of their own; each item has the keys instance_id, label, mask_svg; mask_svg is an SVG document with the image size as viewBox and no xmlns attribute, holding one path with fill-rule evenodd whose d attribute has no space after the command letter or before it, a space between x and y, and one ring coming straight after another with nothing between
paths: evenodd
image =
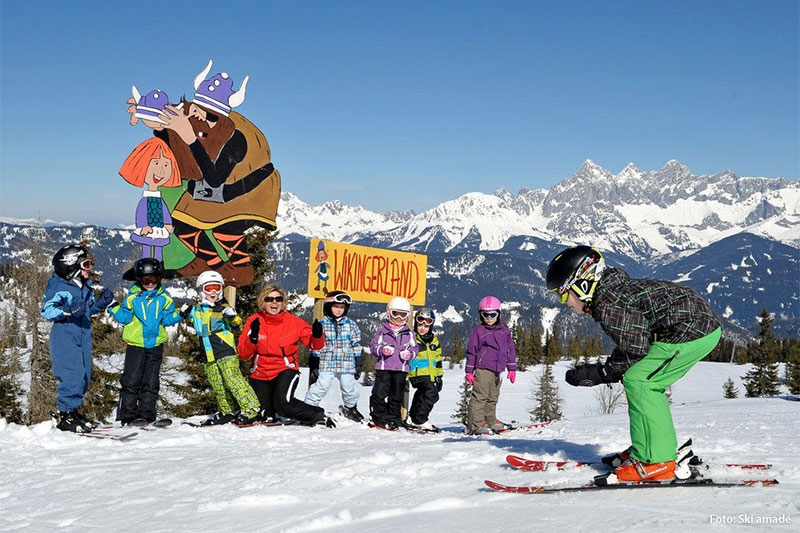
<instances>
[{"instance_id":1,"label":"crouching skier in dark plaid jacket and bright green pants","mask_svg":"<svg viewBox=\"0 0 800 533\"><path fill-rule=\"evenodd\" d=\"M665 389L716 347L720 321L694 290L668 281L631 279L606 268L602 254L575 246L547 268L547 288L576 313L588 313L616 348L605 363L567 371L567 383L591 387L622 381L628 398L631 447L607 478L675 478L677 438Z\"/></svg>"}]
</instances>

